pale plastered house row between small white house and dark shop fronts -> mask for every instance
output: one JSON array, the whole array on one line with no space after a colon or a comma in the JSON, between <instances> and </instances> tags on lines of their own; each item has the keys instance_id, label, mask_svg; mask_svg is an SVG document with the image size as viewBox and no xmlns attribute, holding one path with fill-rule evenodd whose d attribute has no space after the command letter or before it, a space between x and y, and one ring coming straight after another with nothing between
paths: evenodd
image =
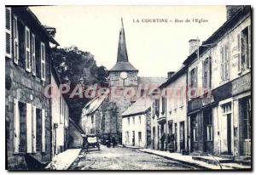
<instances>
[{"instance_id":1,"label":"pale plastered house row between small white house and dark shop fronts","mask_svg":"<svg viewBox=\"0 0 256 175\"><path fill-rule=\"evenodd\" d=\"M155 150L187 150L187 67L172 72L160 85L160 96L154 100L151 138Z\"/></svg>"}]
</instances>

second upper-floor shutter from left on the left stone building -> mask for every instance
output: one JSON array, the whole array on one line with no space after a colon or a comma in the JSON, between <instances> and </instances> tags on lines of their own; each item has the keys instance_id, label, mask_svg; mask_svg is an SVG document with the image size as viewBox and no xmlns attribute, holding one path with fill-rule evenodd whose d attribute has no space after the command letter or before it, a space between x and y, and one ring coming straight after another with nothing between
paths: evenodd
<instances>
[{"instance_id":1,"label":"second upper-floor shutter from left on the left stone building","mask_svg":"<svg viewBox=\"0 0 256 175\"><path fill-rule=\"evenodd\" d=\"M14 62L18 65L19 61L19 32L18 32L18 20L17 17L14 15Z\"/></svg>"}]
</instances>

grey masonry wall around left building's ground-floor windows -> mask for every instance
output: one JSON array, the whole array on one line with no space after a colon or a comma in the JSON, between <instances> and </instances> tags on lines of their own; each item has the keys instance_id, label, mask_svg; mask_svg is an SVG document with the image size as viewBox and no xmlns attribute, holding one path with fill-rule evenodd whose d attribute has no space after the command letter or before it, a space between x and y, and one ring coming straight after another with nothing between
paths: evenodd
<instances>
[{"instance_id":1,"label":"grey masonry wall around left building's ground-floor windows","mask_svg":"<svg viewBox=\"0 0 256 175\"><path fill-rule=\"evenodd\" d=\"M31 72L25 71L24 67L15 65L13 59L5 60L5 118L6 118L6 149L8 169L26 169L24 154L14 154L14 99L18 99L21 103L30 103L35 105L37 109L45 110L45 152L37 151L31 155L38 161L50 161L51 148L51 115L49 107L49 99L44 96L44 88L50 82L49 69L49 42L44 37L40 38L45 43L46 48L46 67L45 82L39 77L32 76Z\"/></svg>"}]
</instances>

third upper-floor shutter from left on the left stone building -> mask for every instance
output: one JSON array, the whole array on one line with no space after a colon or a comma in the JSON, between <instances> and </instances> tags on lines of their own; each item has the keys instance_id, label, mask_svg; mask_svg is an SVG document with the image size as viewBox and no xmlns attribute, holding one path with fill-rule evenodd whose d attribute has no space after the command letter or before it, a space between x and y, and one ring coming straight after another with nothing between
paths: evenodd
<instances>
[{"instance_id":1,"label":"third upper-floor shutter from left on the left stone building","mask_svg":"<svg viewBox=\"0 0 256 175\"><path fill-rule=\"evenodd\" d=\"M31 72L31 43L30 43L30 30L26 26L25 27L25 55L26 55L26 71Z\"/></svg>"}]
</instances>

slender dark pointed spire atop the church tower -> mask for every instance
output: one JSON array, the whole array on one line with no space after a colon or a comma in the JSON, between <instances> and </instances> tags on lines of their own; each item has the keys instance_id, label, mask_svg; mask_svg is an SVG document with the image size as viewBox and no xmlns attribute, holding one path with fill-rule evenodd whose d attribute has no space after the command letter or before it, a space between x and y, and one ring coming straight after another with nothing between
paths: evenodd
<instances>
[{"instance_id":1,"label":"slender dark pointed spire atop the church tower","mask_svg":"<svg viewBox=\"0 0 256 175\"><path fill-rule=\"evenodd\" d=\"M122 24L122 27L119 31L119 48L118 48L117 62L128 62L123 18L121 18L121 24Z\"/></svg>"}]
</instances>

